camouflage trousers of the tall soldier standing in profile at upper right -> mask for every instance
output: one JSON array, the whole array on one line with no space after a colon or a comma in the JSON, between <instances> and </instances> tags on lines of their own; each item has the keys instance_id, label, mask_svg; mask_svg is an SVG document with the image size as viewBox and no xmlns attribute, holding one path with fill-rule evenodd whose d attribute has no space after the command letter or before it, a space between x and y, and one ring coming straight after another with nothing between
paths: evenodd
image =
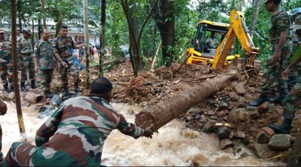
<instances>
[{"instance_id":1,"label":"camouflage trousers of the tall soldier standing in profile at upper right","mask_svg":"<svg viewBox=\"0 0 301 167\"><path fill-rule=\"evenodd\" d=\"M282 79L281 74L284 71L286 58L291 53L291 48L282 49L280 55L280 61L274 62L274 53L277 45L273 45L271 48L270 56L268 57L266 68L262 76L261 94L264 96L269 96L271 94L271 89L277 87L280 93L287 93L287 84L284 79Z\"/></svg>"}]
</instances>

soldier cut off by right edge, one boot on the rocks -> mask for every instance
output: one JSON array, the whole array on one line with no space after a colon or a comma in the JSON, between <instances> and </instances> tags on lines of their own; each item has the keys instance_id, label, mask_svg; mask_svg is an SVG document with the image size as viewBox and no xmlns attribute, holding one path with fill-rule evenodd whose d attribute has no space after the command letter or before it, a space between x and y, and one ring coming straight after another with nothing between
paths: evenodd
<instances>
[{"instance_id":1,"label":"soldier cut off by right edge, one boot on the rocks","mask_svg":"<svg viewBox=\"0 0 301 167\"><path fill-rule=\"evenodd\" d=\"M299 47L301 47L301 16L298 16L295 21L293 28L299 38ZM300 54L300 53L299 53ZM296 58L283 72L282 77L288 79L288 73L301 62L301 54ZM301 105L301 77L299 77L297 84L291 90L291 92L285 97L284 100L284 122L282 125L268 124L276 133L289 134L292 128L291 124L295 117L295 111Z\"/></svg>"}]
</instances>

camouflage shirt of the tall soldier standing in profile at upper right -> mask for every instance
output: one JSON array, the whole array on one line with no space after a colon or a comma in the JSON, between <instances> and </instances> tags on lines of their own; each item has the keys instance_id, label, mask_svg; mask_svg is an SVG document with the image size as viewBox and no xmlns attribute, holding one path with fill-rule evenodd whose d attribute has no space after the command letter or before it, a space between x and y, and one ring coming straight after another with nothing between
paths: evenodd
<instances>
[{"instance_id":1,"label":"camouflage shirt of the tall soldier standing in profile at upper right","mask_svg":"<svg viewBox=\"0 0 301 167\"><path fill-rule=\"evenodd\" d=\"M278 43L282 32L287 32L289 34L290 26L291 21L289 14L279 6L272 16L269 29L269 40L272 44ZM289 42L289 38L287 38L287 42Z\"/></svg>"}]
</instances>

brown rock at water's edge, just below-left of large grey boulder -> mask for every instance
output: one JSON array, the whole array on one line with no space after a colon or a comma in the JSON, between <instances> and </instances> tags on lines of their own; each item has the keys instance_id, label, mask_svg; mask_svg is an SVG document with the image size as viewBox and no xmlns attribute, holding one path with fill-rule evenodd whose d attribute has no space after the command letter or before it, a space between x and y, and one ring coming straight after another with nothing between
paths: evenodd
<instances>
[{"instance_id":1,"label":"brown rock at water's edge, just below-left of large grey boulder","mask_svg":"<svg viewBox=\"0 0 301 167\"><path fill-rule=\"evenodd\" d=\"M266 144L253 143L250 145L250 148L260 159L269 159L278 156L278 152L269 149Z\"/></svg>"}]
</instances>

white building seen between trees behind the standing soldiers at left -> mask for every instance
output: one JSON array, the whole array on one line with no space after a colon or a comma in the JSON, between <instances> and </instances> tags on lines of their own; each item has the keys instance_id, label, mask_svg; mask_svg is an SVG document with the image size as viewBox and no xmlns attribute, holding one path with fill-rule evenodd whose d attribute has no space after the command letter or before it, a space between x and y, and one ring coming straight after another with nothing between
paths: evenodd
<instances>
[{"instance_id":1,"label":"white building seen between trees behind the standing soldiers at left","mask_svg":"<svg viewBox=\"0 0 301 167\"><path fill-rule=\"evenodd\" d=\"M47 24L47 29L50 32L51 38L54 39L56 35L56 23L52 19L46 19L46 24ZM78 25L76 22L72 21L67 21L64 23L68 26L68 35L72 37L74 42L83 42L85 41L84 39L84 30L83 28L78 28L74 25ZM32 30L32 23L29 23L26 25L28 28ZM41 26L43 27L43 22L41 21ZM38 36L38 22L34 22L34 33L35 36ZM83 27L83 26L81 26ZM25 28L25 26L22 24L22 28ZM8 22L2 21L2 24L0 25L0 29L3 29L5 32L7 32L7 37L9 37L10 32L11 32L11 24ZM93 46L99 45L99 28L93 27L89 25L89 43L92 44ZM91 33L94 32L94 33Z\"/></svg>"}]
</instances>

